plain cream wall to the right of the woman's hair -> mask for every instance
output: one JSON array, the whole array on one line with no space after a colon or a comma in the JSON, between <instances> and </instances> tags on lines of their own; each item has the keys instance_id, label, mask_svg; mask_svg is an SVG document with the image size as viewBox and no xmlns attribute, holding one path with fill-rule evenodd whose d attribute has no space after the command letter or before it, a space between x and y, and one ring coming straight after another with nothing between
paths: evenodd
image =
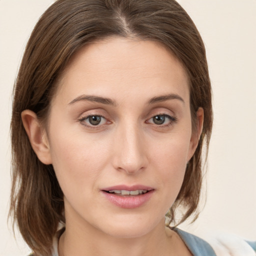
<instances>
[{"instance_id":1,"label":"plain cream wall to the right of the woman's hair","mask_svg":"<svg viewBox=\"0 0 256 256\"><path fill-rule=\"evenodd\" d=\"M180 0L203 37L214 127L207 202L193 229L256 239L256 1Z\"/></svg>"}]
</instances>

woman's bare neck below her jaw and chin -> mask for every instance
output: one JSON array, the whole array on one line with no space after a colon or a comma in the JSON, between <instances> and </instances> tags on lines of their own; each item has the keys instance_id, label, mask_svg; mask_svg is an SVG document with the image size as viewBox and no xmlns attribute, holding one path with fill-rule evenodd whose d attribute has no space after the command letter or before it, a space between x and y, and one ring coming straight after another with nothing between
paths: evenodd
<instances>
[{"instance_id":1,"label":"woman's bare neck below her jaw and chin","mask_svg":"<svg viewBox=\"0 0 256 256\"><path fill-rule=\"evenodd\" d=\"M172 235L167 235L164 220L149 233L140 237L115 237L89 224L86 226L70 225L61 235L58 245L59 256L165 256L176 255L172 246Z\"/></svg>"}]
</instances>

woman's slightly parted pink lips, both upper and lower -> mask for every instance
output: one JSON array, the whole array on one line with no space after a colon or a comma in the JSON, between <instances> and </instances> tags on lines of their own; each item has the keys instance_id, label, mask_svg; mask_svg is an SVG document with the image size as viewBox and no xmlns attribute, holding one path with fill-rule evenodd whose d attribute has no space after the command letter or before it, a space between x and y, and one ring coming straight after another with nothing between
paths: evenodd
<instances>
[{"instance_id":1,"label":"woman's slightly parted pink lips, both upper and lower","mask_svg":"<svg viewBox=\"0 0 256 256\"><path fill-rule=\"evenodd\" d=\"M112 193L108 193L109 190L148 190L144 194L138 195L129 195L129 196L121 196ZM152 196L154 189L152 187L144 186L144 185L116 185L101 189L102 194L114 205L121 208L137 208L144 203L146 203L150 197Z\"/></svg>"}]
</instances>

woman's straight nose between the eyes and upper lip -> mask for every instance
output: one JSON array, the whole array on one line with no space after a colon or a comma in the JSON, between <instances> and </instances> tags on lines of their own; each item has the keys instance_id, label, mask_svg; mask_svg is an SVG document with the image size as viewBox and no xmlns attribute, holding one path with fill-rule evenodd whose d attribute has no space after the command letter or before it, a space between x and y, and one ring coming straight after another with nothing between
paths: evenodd
<instances>
[{"instance_id":1,"label":"woman's straight nose between the eyes and upper lip","mask_svg":"<svg viewBox=\"0 0 256 256\"><path fill-rule=\"evenodd\" d=\"M143 134L138 125L118 127L113 142L115 169L134 174L147 166L146 143L143 141Z\"/></svg>"}]
</instances>

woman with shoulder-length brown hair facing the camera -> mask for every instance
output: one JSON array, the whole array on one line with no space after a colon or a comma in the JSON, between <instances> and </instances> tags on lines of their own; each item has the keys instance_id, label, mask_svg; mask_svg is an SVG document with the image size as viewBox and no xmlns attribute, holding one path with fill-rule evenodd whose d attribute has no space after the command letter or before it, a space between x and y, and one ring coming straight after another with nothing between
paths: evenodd
<instances>
[{"instance_id":1,"label":"woman with shoulder-length brown hair facing the camera","mask_svg":"<svg viewBox=\"0 0 256 256\"><path fill-rule=\"evenodd\" d=\"M211 125L204 46L179 4L56 1L15 85L11 212L25 241L35 255L215 255L164 228L196 213Z\"/></svg>"}]
</instances>

